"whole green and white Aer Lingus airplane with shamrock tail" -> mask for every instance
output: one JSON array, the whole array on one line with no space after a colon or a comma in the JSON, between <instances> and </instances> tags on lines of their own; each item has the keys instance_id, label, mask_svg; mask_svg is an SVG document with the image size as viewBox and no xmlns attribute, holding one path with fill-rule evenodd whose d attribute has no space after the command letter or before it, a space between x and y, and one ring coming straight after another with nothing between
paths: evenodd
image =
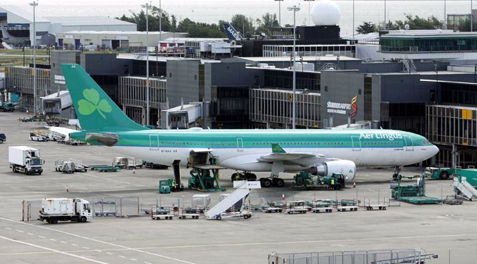
<instances>
[{"instance_id":1,"label":"whole green and white Aer Lingus airplane with shamrock tail","mask_svg":"<svg viewBox=\"0 0 477 264\"><path fill-rule=\"evenodd\" d=\"M186 166L191 154L212 154L247 178L256 178L250 171L271 171L262 185L282 187L283 172L341 173L351 181L356 165L396 167L439 152L423 136L397 130L149 130L129 119L81 66L61 68L82 127L70 137L154 163Z\"/></svg>"}]
</instances>

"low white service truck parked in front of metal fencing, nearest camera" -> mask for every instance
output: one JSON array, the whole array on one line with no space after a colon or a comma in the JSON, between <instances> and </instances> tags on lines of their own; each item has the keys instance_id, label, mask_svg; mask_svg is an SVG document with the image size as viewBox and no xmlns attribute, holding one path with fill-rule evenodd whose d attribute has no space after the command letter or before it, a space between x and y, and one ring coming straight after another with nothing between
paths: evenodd
<instances>
[{"instance_id":1,"label":"low white service truck parked in front of metal fencing, nearest camera","mask_svg":"<svg viewBox=\"0 0 477 264\"><path fill-rule=\"evenodd\" d=\"M90 203L81 198L45 198L41 201L38 220L46 220L49 224L58 221L86 222L93 218Z\"/></svg>"}]
</instances>

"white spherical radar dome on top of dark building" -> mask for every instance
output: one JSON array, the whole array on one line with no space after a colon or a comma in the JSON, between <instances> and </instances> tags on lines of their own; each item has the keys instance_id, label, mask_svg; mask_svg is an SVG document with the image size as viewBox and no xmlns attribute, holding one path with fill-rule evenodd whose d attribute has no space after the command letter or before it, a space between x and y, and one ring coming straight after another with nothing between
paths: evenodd
<instances>
[{"instance_id":1,"label":"white spherical radar dome on top of dark building","mask_svg":"<svg viewBox=\"0 0 477 264\"><path fill-rule=\"evenodd\" d=\"M310 15L315 25L337 25L341 10L330 0L320 0L313 5Z\"/></svg>"}]
</instances>

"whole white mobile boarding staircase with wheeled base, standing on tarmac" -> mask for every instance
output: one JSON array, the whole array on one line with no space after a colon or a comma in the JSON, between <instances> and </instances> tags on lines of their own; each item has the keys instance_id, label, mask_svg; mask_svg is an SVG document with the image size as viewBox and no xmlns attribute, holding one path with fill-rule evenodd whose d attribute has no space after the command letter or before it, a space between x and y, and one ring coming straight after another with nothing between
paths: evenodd
<instances>
[{"instance_id":1,"label":"whole white mobile boarding staircase with wheeled base, standing on tarmac","mask_svg":"<svg viewBox=\"0 0 477 264\"><path fill-rule=\"evenodd\" d=\"M232 193L229 193L223 200L217 202L216 204L210 206L210 209L206 211L206 219L217 219L221 220L222 218L228 217L243 217L248 219L252 217L251 211L245 211L244 205L245 200L250 193L251 189L260 189L260 181L248 182L245 180L235 181L234 182L235 190ZM226 213L229 208L234 206L237 202L242 201L241 207L237 212Z\"/></svg>"}]
</instances>

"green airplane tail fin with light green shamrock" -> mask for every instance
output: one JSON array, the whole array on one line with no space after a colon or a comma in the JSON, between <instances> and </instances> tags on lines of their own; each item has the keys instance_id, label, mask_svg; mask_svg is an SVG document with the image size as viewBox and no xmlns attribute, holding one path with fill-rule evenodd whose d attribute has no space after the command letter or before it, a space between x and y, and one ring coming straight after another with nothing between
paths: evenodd
<instances>
[{"instance_id":1,"label":"green airplane tail fin with light green shamrock","mask_svg":"<svg viewBox=\"0 0 477 264\"><path fill-rule=\"evenodd\" d=\"M62 64L61 69L82 130L147 130L127 117L79 64Z\"/></svg>"}]
</instances>

